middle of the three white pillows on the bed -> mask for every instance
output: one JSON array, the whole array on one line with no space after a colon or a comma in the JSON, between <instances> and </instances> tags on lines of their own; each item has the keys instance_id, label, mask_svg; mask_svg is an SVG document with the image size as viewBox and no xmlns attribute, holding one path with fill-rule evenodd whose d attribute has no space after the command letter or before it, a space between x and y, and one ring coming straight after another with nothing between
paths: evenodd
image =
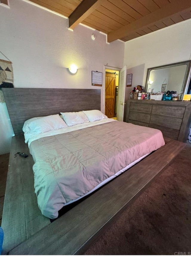
<instances>
[{"instance_id":1,"label":"middle of the three white pillows on the bed","mask_svg":"<svg viewBox=\"0 0 191 256\"><path fill-rule=\"evenodd\" d=\"M65 113L60 112L60 114L62 115L67 126L73 126L76 124L83 124L89 122L87 116L83 113L83 111Z\"/></svg>"}]
</instances>

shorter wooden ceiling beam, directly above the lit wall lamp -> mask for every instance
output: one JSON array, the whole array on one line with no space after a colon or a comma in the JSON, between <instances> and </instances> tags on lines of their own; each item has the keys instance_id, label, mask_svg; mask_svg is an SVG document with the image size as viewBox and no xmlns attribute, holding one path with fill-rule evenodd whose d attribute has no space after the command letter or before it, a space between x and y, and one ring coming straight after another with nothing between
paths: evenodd
<instances>
[{"instance_id":1,"label":"shorter wooden ceiling beam, directly above the lit wall lamp","mask_svg":"<svg viewBox=\"0 0 191 256\"><path fill-rule=\"evenodd\" d=\"M69 28L75 28L101 4L101 0L83 0L69 16Z\"/></svg>"}]
</instances>

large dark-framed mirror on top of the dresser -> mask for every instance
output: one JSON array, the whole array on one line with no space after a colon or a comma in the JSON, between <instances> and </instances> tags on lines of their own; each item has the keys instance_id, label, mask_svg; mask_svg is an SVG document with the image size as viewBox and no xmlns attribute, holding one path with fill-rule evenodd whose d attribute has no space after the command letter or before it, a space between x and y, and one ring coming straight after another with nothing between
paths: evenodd
<instances>
[{"instance_id":1,"label":"large dark-framed mirror on top of the dresser","mask_svg":"<svg viewBox=\"0 0 191 256\"><path fill-rule=\"evenodd\" d=\"M145 90L154 89L155 93L161 91L176 91L177 94L183 91L184 93L190 67L191 61L182 61L148 68Z\"/></svg>"}]
</instances>

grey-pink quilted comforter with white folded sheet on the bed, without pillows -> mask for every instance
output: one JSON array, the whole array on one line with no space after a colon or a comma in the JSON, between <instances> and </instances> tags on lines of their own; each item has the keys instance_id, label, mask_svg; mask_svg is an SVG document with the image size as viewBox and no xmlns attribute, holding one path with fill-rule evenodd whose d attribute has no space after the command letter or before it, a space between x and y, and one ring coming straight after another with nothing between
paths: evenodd
<instances>
[{"instance_id":1,"label":"grey-pink quilted comforter with white folded sheet on the bed, without pillows","mask_svg":"<svg viewBox=\"0 0 191 256\"><path fill-rule=\"evenodd\" d=\"M31 137L38 206L50 219L165 144L159 130L109 118Z\"/></svg>"}]
</instances>

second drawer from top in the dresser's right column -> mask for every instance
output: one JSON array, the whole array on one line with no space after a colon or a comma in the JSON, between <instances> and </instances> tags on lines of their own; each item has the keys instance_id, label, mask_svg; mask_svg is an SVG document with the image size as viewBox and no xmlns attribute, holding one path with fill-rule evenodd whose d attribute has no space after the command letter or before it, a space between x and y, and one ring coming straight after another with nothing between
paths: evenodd
<instances>
[{"instance_id":1,"label":"second drawer from top in the dresser's right column","mask_svg":"<svg viewBox=\"0 0 191 256\"><path fill-rule=\"evenodd\" d=\"M166 117L161 115L151 115L150 124L155 124L163 127L168 127L176 130L180 130L182 119Z\"/></svg>"}]
</instances>

